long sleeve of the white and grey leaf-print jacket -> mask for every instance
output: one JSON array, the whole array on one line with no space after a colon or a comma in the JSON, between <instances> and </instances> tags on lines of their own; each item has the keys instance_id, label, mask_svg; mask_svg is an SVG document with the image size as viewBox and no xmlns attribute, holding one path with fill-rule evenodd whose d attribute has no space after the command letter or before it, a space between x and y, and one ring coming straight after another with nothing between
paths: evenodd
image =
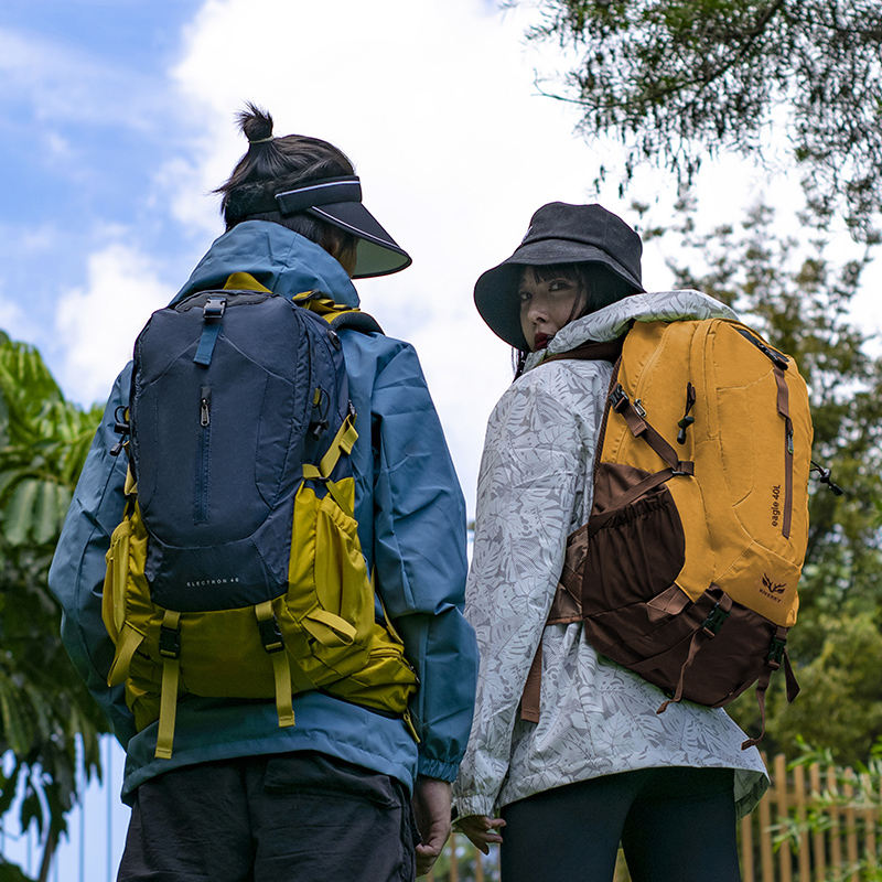
<instances>
[{"instance_id":1,"label":"long sleeve of the white and grey leaf-print jacket","mask_svg":"<svg viewBox=\"0 0 882 882\"><path fill-rule=\"evenodd\" d=\"M487 424L465 601L481 668L455 788L460 816L493 811L573 514L590 506L581 496L591 492L598 423L592 397L603 395L603 384L600 372L579 367L530 372L503 396ZM574 392L584 406L572 406Z\"/></svg>"}]
</instances>

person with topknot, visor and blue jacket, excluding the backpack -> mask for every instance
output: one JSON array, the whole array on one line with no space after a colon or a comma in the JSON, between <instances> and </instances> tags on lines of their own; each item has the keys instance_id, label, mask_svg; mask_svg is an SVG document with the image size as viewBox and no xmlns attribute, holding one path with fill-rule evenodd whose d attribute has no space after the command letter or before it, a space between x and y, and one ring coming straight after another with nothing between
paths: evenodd
<instances>
[{"instance_id":1,"label":"person with topknot, visor and blue jacket, excluding the backpack","mask_svg":"<svg viewBox=\"0 0 882 882\"><path fill-rule=\"evenodd\" d=\"M254 284L289 299L321 291L357 309L353 278L410 265L361 202L349 160L332 144L272 137L254 105L249 141L218 189L226 233L172 301ZM129 399L120 374L71 505L50 572L74 665L127 752L132 808L118 879L406 882L429 872L450 831L450 783L472 720L477 649L462 614L462 492L413 348L379 332L338 332L358 440L351 454L358 538L383 606L419 677L410 719L320 691L293 697L280 728L272 700L187 696L171 759L157 723L136 731L101 621L105 555L123 516L126 456L111 449ZM418 736L415 738L415 734Z\"/></svg>"}]
</instances>

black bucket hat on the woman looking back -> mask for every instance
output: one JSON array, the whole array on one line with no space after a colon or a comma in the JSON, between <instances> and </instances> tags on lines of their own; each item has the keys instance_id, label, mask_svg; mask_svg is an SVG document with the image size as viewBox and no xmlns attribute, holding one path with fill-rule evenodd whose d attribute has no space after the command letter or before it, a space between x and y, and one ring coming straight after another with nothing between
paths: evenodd
<instances>
[{"instance_id":1,"label":"black bucket hat on the woman looking back","mask_svg":"<svg viewBox=\"0 0 882 882\"><path fill-rule=\"evenodd\" d=\"M520 329L515 298L524 267L552 263L601 263L626 282L627 293L643 291L641 237L602 205L542 205L524 240L508 260L475 283L475 305L491 330L515 348L529 348Z\"/></svg>"}]
</instances>

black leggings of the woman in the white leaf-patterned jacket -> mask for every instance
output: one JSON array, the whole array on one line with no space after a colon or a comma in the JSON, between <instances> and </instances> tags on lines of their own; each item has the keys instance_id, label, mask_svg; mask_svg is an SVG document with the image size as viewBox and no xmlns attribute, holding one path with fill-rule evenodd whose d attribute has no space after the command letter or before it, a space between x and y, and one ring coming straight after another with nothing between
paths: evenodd
<instances>
[{"instance_id":1,"label":"black leggings of the woman in the white leaf-patterned jacket","mask_svg":"<svg viewBox=\"0 0 882 882\"><path fill-rule=\"evenodd\" d=\"M644 768L512 803L503 882L739 882L731 768Z\"/></svg>"}]
</instances>

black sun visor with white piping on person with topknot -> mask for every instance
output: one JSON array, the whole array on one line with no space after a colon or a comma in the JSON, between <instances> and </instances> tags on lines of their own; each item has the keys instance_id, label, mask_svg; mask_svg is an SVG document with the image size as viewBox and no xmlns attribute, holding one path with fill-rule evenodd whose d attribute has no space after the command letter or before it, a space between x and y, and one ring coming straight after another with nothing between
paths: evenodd
<instances>
[{"instance_id":1,"label":"black sun visor with white piping on person with topknot","mask_svg":"<svg viewBox=\"0 0 882 882\"><path fill-rule=\"evenodd\" d=\"M358 237L353 279L388 276L410 266L411 258L362 204L362 183L356 175L310 181L272 195L252 200L248 214L305 212Z\"/></svg>"}]
</instances>

